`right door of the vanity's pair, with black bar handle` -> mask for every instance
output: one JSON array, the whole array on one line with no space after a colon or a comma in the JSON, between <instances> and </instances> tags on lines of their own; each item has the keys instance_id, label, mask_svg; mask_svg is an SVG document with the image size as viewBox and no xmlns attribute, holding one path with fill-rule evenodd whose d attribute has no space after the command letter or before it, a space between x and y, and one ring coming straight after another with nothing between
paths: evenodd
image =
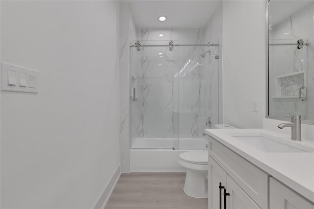
<instances>
[{"instance_id":1,"label":"right door of the vanity's pair, with black bar handle","mask_svg":"<svg viewBox=\"0 0 314 209\"><path fill-rule=\"evenodd\" d=\"M258 205L227 175L227 209L260 209Z\"/></svg>"}]
</instances>

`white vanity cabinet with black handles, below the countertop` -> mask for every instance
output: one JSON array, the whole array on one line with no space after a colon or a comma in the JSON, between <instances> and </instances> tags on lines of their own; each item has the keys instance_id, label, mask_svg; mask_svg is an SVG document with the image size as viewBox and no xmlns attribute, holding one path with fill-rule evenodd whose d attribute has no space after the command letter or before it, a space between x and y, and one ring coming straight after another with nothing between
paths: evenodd
<instances>
[{"instance_id":1,"label":"white vanity cabinet with black handles, below the countertop","mask_svg":"<svg viewBox=\"0 0 314 209\"><path fill-rule=\"evenodd\" d=\"M314 203L222 142L209 140L209 209L314 209ZM223 188L220 188L222 186ZM227 195L226 195L227 194Z\"/></svg>"}]
</instances>

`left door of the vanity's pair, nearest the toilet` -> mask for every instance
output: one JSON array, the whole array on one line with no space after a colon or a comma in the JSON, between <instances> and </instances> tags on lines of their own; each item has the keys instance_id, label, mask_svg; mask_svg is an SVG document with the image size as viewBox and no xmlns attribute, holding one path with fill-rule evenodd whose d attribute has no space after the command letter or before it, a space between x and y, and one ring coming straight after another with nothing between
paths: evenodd
<instances>
[{"instance_id":1,"label":"left door of the vanity's pair, nearest the toilet","mask_svg":"<svg viewBox=\"0 0 314 209\"><path fill-rule=\"evenodd\" d=\"M224 189L219 188L219 183L227 188L227 173L210 156L208 165L208 208L219 209L221 190L221 209L224 209Z\"/></svg>"}]
</instances>

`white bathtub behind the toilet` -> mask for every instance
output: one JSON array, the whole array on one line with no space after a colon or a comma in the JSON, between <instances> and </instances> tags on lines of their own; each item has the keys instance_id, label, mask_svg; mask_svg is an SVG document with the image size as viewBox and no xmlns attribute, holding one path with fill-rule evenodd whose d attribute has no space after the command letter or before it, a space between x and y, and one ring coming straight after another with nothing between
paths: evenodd
<instances>
[{"instance_id":1,"label":"white bathtub behind the toilet","mask_svg":"<svg viewBox=\"0 0 314 209\"><path fill-rule=\"evenodd\" d=\"M130 149L130 172L185 172L178 163L179 155L191 150L207 150L207 143L207 139L203 138L133 139Z\"/></svg>"}]
</instances>

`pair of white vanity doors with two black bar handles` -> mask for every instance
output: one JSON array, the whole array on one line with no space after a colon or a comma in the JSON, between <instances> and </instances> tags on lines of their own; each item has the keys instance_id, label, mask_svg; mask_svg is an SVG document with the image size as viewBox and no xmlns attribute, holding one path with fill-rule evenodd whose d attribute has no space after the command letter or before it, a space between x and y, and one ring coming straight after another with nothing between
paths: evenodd
<instances>
[{"instance_id":1,"label":"pair of white vanity doors with two black bar handles","mask_svg":"<svg viewBox=\"0 0 314 209\"><path fill-rule=\"evenodd\" d=\"M260 209L210 156L208 162L209 209Z\"/></svg>"}]
</instances>

